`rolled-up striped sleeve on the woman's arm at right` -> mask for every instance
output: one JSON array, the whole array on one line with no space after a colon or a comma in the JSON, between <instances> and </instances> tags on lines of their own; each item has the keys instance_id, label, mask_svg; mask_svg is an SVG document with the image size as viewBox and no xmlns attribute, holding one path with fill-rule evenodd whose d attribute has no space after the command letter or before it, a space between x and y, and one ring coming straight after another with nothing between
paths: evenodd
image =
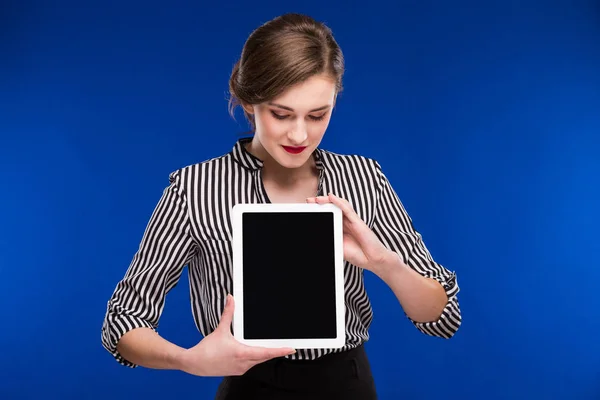
<instances>
[{"instance_id":1,"label":"rolled-up striped sleeve on the woman's arm at right","mask_svg":"<svg viewBox=\"0 0 600 400\"><path fill-rule=\"evenodd\" d=\"M375 162L377 205L373 231L383 244L397 252L404 262L419 274L438 281L448 297L446 306L437 321L417 322L409 318L421 332L441 338L451 338L461 325L461 310L457 294L456 274L433 260L423 238L413 226L398 195Z\"/></svg>"}]
</instances>

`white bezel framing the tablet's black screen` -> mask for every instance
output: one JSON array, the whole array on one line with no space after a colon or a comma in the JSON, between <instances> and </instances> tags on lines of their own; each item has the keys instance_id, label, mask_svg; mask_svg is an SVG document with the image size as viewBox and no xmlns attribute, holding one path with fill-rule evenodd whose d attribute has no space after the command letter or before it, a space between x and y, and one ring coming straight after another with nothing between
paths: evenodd
<instances>
[{"instance_id":1,"label":"white bezel framing the tablet's black screen","mask_svg":"<svg viewBox=\"0 0 600 400\"><path fill-rule=\"evenodd\" d=\"M332 213L334 232L335 257L335 308L336 330L335 338L315 339L245 339L244 338L244 266L243 266L243 215L245 213ZM232 209L232 248L233 248L233 297L235 309L233 315L233 333L236 340L248 346L268 348L291 347L295 349L335 349L341 348L346 342L344 303L344 244L342 211L334 204L309 203L266 203L266 204L237 204Z\"/></svg>"}]
</instances>

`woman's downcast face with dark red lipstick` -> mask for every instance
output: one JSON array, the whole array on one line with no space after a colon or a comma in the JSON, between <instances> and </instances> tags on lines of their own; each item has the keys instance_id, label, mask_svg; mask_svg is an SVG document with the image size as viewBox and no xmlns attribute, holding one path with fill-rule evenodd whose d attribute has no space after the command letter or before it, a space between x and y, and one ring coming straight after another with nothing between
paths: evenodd
<instances>
[{"instance_id":1,"label":"woman's downcast face with dark red lipstick","mask_svg":"<svg viewBox=\"0 0 600 400\"><path fill-rule=\"evenodd\" d=\"M285 168L303 166L327 130L336 98L335 82L317 75L270 102L245 107L254 114L252 148Z\"/></svg>"}]
</instances>

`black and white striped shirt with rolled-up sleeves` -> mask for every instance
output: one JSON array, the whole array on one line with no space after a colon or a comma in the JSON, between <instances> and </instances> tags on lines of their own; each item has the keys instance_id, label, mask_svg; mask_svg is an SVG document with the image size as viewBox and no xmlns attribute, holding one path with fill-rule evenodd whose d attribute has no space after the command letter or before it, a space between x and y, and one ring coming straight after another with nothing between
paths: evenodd
<instances>
[{"instance_id":1,"label":"black and white striped shirt with rolled-up sleeves","mask_svg":"<svg viewBox=\"0 0 600 400\"><path fill-rule=\"evenodd\" d=\"M238 203L269 202L262 183L261 160L245 144L217 158L172 172L144 232L138 251L108 301L102 344L121 364L135 367L116 350L123 334L136 327L157 329L165 296L188 266L193 317L204 335L218 325L225 299L232 293L232 226L230 212ZM450 338L461 314L456 275L436 263L414 229L380 165L357 155L317 149L319 194L334 193L354 210L388 248L420 274L439 281L448 303L438 321L413 324L421 332ZM362 269L345 263L346 346L369 338L373 318ZM298 349L292 359L314 359L336 350Z\"/></svg>"}]
</instances>

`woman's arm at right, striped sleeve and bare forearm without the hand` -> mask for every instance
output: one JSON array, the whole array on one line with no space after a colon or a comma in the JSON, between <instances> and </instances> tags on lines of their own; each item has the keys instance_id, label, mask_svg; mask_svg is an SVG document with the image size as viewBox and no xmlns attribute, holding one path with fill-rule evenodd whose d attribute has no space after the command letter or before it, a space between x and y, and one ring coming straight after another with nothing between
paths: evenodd
<instances>
[{"instance_id":1,"label":"woman's arm at right, striped sleeve and bare forearm without the hand","mask_svg":"<svg viewBox=\"0 0 600 400\"><path fill-rule=\"evenodd\" d=\"M390 286L421 332L451 338L462 318L456 274L433 260L380 165L375 166L378 190L373 232L389 253L374 272Z\"/></svg>"}]
</instances>

